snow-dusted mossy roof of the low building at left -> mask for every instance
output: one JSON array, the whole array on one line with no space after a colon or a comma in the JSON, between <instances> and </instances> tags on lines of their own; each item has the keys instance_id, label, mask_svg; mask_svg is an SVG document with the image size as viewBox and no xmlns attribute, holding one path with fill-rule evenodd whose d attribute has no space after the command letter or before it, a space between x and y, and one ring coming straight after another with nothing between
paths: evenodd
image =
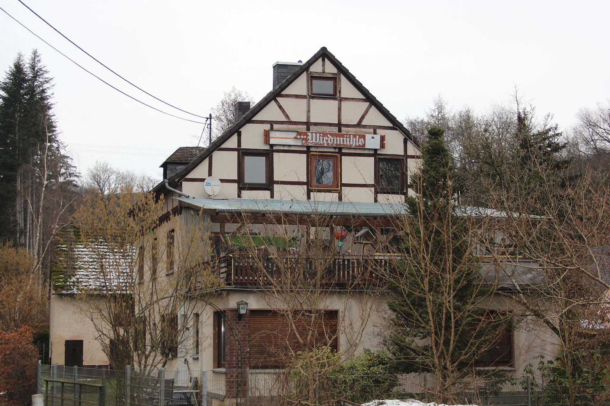
<instances>
[{"instance_id":1,"label":"snow-dusted mossy roof of the low building at left","mask_svg":"<svg viewBox=\"0 0 610 406\"><path fill-rule=\"evenodd\" d=\"M134 281L134 247L118 250L99 241L60 244L57 251L61 270L53 275L56 292L125 293Z\"/></svg>"}]
</instances>

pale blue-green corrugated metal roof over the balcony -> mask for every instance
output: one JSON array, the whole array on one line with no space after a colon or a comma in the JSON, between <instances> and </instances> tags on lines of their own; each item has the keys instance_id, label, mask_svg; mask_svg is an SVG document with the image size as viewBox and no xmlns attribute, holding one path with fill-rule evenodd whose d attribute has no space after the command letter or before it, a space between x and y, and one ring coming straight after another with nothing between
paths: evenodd
<instances>
[{"instance_id":1,"label":"pale blue-green corrugated metal roof over the balcony","mask_svg":"<svg viewBox=\"0 0 610 406\"><path fill-rule=\"evenodd\" d=\"M217 212L250 212L325 215L404 215L406 206L399 203L362 203L352 201L278 200L246 198L174 197L196 208Z\"/></svg>"}]
</instances>

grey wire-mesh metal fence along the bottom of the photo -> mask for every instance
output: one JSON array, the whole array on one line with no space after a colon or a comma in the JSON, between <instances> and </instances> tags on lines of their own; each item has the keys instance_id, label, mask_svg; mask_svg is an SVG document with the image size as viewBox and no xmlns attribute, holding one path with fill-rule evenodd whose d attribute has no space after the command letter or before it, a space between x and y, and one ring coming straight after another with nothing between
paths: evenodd
<instances>
[{"instance_id":1,"label":"grey wire-mesh metal fence along the bottom of the photo","mask_svg":"<svg viewBox=\"0 0 610 406\"><path fill-rule=\"evenodd\" d=\"M610 406L610 386L540 385L531 379L465 383L453 404L479 406ZM111 369L38 363L45 406L259 406L307 402L306 377L273 369ZM429 374L315 376L315 404L364 404L384 399L447 402L434 396ZM573 403L572 403L573 400ZM345 402L346 401L346 402ZM349 402L349 403L348 403Z\"/></svg>"}]
</instances>

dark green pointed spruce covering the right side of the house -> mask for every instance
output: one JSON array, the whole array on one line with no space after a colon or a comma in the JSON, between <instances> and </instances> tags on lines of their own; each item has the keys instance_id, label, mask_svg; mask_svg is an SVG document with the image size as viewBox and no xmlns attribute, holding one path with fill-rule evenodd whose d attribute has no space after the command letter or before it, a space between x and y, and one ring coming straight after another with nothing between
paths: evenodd
<instances>
[{"instance_id":1,"label":"dark green pointed spruce covering the right side of the house","mask_svg":"<svg viewBox=\"0 0 610 406\"><path fill-rule=\"evenodd\" d=\"M407 199L401 262L390 279L389 349L401 372L429 372L437 379L436 400L451 396L473 362L495 338L499 323L479 306L490 287L481 280L473 254L473 222L460 214L462 183L451 164L442 127L428 130L422 167ZM470 368L468 368L470 366Z\"/></svg>"}]
</instances>

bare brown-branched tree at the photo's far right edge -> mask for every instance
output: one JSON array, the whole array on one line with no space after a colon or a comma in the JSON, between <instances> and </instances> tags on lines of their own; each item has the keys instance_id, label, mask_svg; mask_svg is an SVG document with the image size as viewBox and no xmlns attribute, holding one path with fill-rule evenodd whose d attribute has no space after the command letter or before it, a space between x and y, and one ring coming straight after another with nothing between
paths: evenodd
<instances>
[{"instance_id":1,"label":"bare brown-branched tree at the photo's far right edge","mask_svg":"<svg viewBox=\"0 0 610 406\"><path fill-rule=\"evenodd\" d=\"M532 171L539 179L536 194L525 187L493 191L498 206L514 214L503 229L512 248L534 261L526 292L515 284L506 295L556 336L574 404L575 376L589 368L578 354L605 339L604 329L590 333L591 326L605 325L608 309L608 175L585 170L570 180L536 165L514 167L510 176L519 184Z\"/></svg>"}]
</instances>

